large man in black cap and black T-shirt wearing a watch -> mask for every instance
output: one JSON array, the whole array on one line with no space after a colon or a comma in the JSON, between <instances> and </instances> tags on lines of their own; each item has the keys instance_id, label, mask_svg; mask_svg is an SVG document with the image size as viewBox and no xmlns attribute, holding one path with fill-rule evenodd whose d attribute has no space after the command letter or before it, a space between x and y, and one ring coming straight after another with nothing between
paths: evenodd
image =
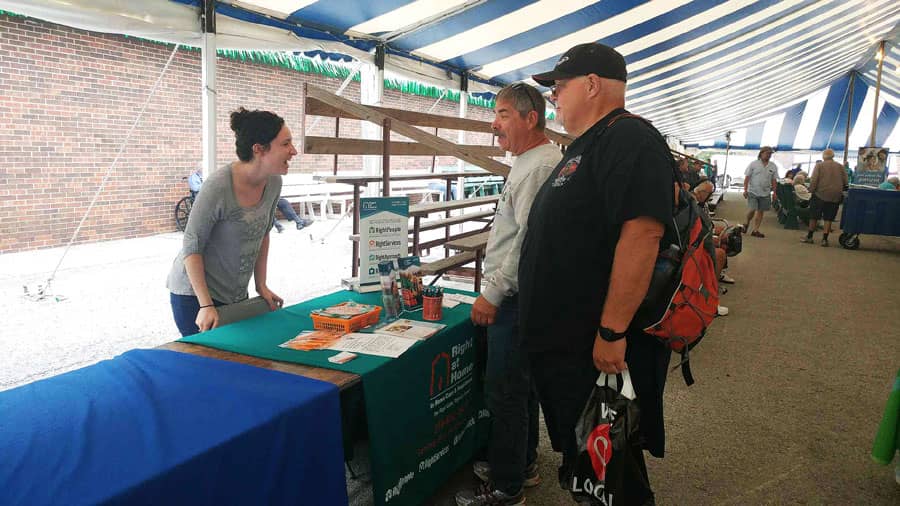
<instances>
[{"instance_id":1,"label":"large man in black cap and black T-shirt wearing a watch","mask_svg":"<svg viewBox=\"0 0 900 506\"><path fill-rule=\"evenodd\" d=\"M578 137L535 197L519 263L520 328L569 489L575 423L598 371L631 372L645 448L663 455L670 353L631 320L672 219L674 160L654 128L621 116L625 60L614 49L580 44L533 78Z\"/></svg>"}]
</instances>

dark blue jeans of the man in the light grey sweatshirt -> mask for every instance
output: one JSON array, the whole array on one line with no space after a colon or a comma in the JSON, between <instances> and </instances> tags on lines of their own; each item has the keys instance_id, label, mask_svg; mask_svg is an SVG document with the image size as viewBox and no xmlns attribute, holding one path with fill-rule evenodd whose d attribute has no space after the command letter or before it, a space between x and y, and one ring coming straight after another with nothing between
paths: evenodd
<instances>
[{"instance_id":1,"label":"dark blue jeans of the man in the light grey sweatshirt","mask_svg":"<svg viewBox=\"0 0 900 506\"><path fill-rule=\"evenodd\" d=\"M526 467L537 460L538 445L537 390L519 333L518 296L504 299L487 334L488 463L495 488L515 494L522 489Z\"/></svg>"}]
</instances>

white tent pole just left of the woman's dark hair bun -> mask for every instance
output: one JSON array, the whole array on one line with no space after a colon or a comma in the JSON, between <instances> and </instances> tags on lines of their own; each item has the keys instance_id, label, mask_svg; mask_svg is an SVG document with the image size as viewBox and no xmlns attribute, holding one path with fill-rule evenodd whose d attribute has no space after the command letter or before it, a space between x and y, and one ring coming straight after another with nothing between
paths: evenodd
<instances>
[{"instance_id":1,"label":"white tent pole just left of the woman's dark hair bun","mask_svg":"<svg viewBox=\"0 0 900 506\"><path fill-rule=\"evenodd\" d=\"M200 25L203 174L209 177L216 170L216 0L201 1Z\"/></svg>"}]
</instances>

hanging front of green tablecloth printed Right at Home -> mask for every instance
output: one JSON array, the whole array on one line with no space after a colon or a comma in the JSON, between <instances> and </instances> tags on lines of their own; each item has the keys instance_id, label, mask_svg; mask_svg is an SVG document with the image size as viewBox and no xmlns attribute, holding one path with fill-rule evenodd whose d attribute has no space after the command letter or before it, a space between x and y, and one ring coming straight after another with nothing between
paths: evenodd
<instances>
[{"instance_id":1,"label":"hanging front of green tablecloth printed Right at Home","mask_svg":"<svg viewBox=\"0 0 900 506\"><path fill-rule=\"evenodd\" d=\"M426 504L487 442L485 345L470 311L445 309L446 328L363 375L376 506Z\"/></svg>"}]
</instances>

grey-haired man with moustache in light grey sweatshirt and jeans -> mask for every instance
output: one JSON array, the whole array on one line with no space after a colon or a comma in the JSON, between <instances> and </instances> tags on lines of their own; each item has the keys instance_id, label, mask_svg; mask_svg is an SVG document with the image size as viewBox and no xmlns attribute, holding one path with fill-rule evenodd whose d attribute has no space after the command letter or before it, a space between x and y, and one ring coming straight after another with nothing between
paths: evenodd
<instances>
[{"instance_id":1,"label":"grey-haired man with moustache in light grey sweatshirt and jeans","mask_svg":"<svg viewBox=\"0 0 900 506\"><path fill-rule=\"evenodd\" d=\"M494 214L484 258L484 286L472 321L487 327L485 391L491 411L487 461L475 475L488 486L456 495L459 506L522 504L537 472L538 399L519 332L519 254L531 203L562 158L544 134L544 97L524 83L500 90L491 128L500 147L516 156Z\"/></svg>"}]
</instances>

